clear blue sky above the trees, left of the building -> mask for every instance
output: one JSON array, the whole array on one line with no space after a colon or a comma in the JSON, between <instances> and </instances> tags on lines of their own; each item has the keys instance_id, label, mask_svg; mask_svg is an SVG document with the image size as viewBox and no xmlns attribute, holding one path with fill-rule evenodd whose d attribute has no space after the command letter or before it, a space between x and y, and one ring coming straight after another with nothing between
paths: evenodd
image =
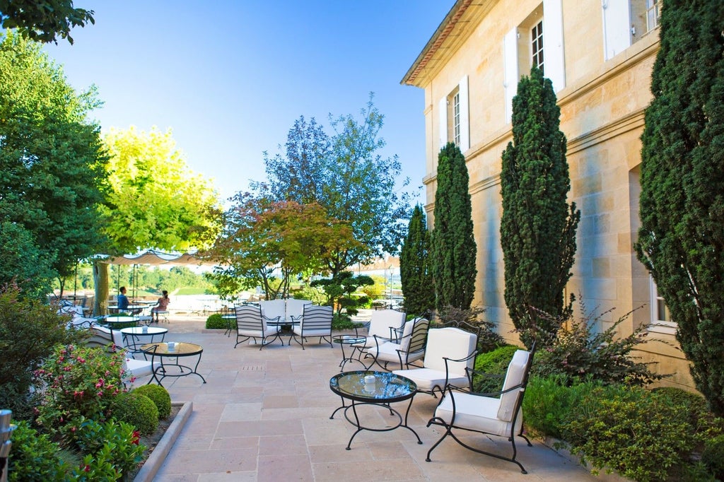
<instances>
[{"instance_id":1,"label":"clear blue sky above the trees, left of the building","mask_svg":"<svg viewBox=\"0 0 724 482\"><path fill-rule=\"evenodd\" d=\"M374 92L384 156L411 190L425 166L424 91L400 85L454 0L76 0L96 25L46 47L77 90L98 87L104 130L171 128L221 198L263 180L301 115L358 115ZM328 133L332 131L327 129ZM424 201L420 195L418 200Z\"/></svg>"}]
</instances>

